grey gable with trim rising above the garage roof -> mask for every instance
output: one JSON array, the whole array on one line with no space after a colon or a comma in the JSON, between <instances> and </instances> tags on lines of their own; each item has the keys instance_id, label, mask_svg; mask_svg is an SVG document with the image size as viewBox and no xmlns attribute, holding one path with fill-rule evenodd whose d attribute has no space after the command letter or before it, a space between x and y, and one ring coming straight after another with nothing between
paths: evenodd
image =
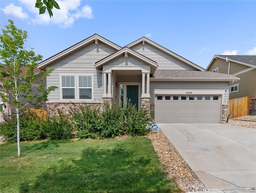
<instances>
[{"instance_id":1,"label":"grey gable with trim rising above the garage roof","mask_svg":"<svg viewBox=\"0 0 256 193\"><path fill-rule=\"evenodd\" d=\"M200 70L204 68L182 58L178 54L148 40L145 37L127 45L128 48L156 61L159 64L158 70Z\"/></svg>"}]
</instances>

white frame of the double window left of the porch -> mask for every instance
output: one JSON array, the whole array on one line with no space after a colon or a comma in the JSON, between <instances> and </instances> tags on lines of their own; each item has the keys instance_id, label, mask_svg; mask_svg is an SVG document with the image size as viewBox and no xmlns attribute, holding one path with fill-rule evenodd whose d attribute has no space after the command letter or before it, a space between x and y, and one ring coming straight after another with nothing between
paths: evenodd
<instances>
[{"instance_id":1,"label":"white frame of the double window left of the porch","mask_svg":"<svg viewBox=\"0 0 256 193\"><path fill-rule=\"evenodd\" d=\"M94 101L94 73L59 73L60 80L60 101L85 101L93 102ZM75 99L63 99L62 96L62 76L74 76L75 77ZM79 85L78 85L78 76L92 76L92 99L79 99ZM67 88L67 87L64 87ZM72 87L73 88L73 87Z\"/></svg>"}]
</instances>

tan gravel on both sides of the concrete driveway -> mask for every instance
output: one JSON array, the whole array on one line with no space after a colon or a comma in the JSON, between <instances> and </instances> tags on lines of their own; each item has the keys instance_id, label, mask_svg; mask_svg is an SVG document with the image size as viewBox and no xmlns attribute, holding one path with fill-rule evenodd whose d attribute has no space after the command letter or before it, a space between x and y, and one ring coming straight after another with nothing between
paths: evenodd
<instances>
[{"instance_id":1,"label":"tan gravel on both sides of the concrete driveway","mask_svg":"<svg viewBox=\"0 0 256 193\"><path fill-rule=\"evenodd\" d=\"M225 124L256 129L256 115L232 118ZM168 178L175 179L184 192L207 191L160 129L151 131L148 137L166 168Z\"/></svg>"}]
</instances>

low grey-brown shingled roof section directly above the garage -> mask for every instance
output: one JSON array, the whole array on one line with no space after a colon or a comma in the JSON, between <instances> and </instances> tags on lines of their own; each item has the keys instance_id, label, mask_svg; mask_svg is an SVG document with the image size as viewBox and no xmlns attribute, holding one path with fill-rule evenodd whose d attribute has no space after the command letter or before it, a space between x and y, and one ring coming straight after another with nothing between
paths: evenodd
<instances>
[{"instance_id":1,"label":"low grey-brown shingled roof section directly above the garage","mask_svg":"<svg viewBox=\"0 0 256 193\"><path fill-rule=\"evenodd\" d=\"M181 81L231 81L239 80L233 75L215 73L209 71L194 70L156 70L155 75L150 80L181 80Z\"/></svg>"}]
</instances>

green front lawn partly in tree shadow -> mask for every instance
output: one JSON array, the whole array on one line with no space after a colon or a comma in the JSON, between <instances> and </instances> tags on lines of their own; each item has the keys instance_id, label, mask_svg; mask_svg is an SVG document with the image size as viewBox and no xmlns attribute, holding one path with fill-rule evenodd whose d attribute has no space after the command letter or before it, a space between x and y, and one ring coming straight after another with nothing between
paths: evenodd
<instances>
[{"instance_id":1,"label":"green front lawn partly in tree shadow","mask_svg":"<svg viewBox=\"0 0 256 193\"><path fill-rule=\"evenodd\" d=\"M150 139L48 140L0 145L0 192L180 192Z\"/></svg>"}]
</instances>

